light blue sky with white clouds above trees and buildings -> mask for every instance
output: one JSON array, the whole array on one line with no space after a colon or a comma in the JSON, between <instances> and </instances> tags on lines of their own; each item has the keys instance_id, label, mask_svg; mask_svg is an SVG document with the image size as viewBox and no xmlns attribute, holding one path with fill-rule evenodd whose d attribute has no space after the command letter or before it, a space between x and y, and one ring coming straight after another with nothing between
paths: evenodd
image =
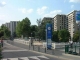
<instances>
[{"instance_id":1,"label":"light blue sky with white clouds above trees and buildings","mask_svg":"<svg viewBox=\"0 0 80 60\"><path fill-rule=\"evenodd\" d=\"M37 19L73 10L80 10L80 0L0 0L0 25L26 17L36 25Z\"/></svg>"}]
</instances>

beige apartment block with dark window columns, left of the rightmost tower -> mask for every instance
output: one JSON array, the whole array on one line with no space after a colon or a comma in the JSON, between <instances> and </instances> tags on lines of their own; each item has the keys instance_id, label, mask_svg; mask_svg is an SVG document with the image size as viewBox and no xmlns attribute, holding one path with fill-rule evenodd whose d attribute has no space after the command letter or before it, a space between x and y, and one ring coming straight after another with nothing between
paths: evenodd
<instances>
[{"instance_id":1,"label":"beige apartment block with dark window columns, left of the rightmost tower","mask_svg":"<svg viewBox=\"0 0 80 60\"><path fill-rule=\"evenodd\" d=\"M57 14L54 18L54 31L68 29L67 16L64 14Z\"/></svg>"}]
</instances>

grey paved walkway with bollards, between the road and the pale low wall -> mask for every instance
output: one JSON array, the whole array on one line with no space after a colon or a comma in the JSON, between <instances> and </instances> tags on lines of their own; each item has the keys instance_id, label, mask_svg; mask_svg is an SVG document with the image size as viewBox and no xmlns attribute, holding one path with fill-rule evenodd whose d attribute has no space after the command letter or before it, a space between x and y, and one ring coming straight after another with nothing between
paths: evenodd
<instances>
[{"instance_id":1,"label":"grey paved walkway with bollards, between the road and the pale low wall","mask_svg":"<svg viewBox=\"0 0 80 60\"><path fill-rule=\"evenodd\" d=\"M28 49L28 50L31 50L31 51L39 52L39 54L41 54L41 53L48 54L48 56L65 58L67 60L69 60L69 59L80 60L80 56L65 54L64 48L55 49L55 50L45 50L45 48L43 48L42 46L30 46L29 47L28 45L21 44L21 43L18 43L18 42L14 42L14 41L8 41L8 43L11 44L11 45L17 46L17 47L21 47L21 48Z\"/></svg>"}]
</instances>

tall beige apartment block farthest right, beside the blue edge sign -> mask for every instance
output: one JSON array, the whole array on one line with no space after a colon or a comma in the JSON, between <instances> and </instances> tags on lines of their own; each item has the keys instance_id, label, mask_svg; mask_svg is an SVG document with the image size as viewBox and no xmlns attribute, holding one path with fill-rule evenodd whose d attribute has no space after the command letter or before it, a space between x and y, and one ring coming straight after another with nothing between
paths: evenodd
<instances>
[{"instance_id":1,"label":"tall beige apartment block farthest right, beside the blue edge sign","mask_svg":"<svg viewBox=\"0 0 80 60\"><path fill-rule=\"evenodd\" d=\"M67 17L68 17L68 30L71 35L71 39L73 38L73 34L78 30L77 29L77 24L76 24L76 12L77 10L74 10L70 12Z\"/></svg>"}]
</instances>

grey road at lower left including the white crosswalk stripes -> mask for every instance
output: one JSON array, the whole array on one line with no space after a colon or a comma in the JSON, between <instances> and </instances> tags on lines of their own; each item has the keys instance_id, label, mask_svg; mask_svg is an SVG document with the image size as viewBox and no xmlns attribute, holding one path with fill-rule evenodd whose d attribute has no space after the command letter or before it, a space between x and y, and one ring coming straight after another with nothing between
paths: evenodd
<instances>
[{"instance_id":1,"label":"grey road at lower left including the white crosswalk stripes","mask_svg":"<svg viewBox=\"0 0 80 60\"><path fill-rule=\"evenodd\" d=\"M66 60L56 56L29 51L21 47L8 44L4 41L2 60Z\"/></svg>"}]
</instances>

